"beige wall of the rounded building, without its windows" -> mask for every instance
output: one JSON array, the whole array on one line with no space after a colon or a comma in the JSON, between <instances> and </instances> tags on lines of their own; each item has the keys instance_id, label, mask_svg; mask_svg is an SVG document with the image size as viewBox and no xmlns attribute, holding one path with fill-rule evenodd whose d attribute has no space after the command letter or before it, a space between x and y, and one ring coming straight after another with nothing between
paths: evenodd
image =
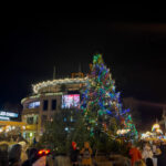
<instances>
[{"instance_id":1,"label":"beige wall of the rounded building, without its windows","mask_svg":"<svg viewBox=\"0 0 166 166\"><path fill-rule=\"evenodd\" d=\"M66 84L64 84L65 81ZM52 85L52 81L39 83L38 85L40 86L42 84L42 87L35 89L37 91L33 91L34 94L32 96L25 97L21 101L23 105L22 121L27 123L28 117L38 117L37 123L27 125L24 135L31 134L31 138L34 136L40 137L40 135L44 132L45 121L53 121L54 113L60 112L62 105L62 95L68 94L69 91L80 92L82 86L84 86L86 79L64 79L58 80L55 82L58 82L59 84ZM46 85L48 83L49 86ZM56 101L55 110L52 110L52 100ZM40 106L35 108L28 108L28 104L35 101L40 102ZM45 111L43 110L44 101L48 101L48 108Z\"/></svg>"}]
</instances>

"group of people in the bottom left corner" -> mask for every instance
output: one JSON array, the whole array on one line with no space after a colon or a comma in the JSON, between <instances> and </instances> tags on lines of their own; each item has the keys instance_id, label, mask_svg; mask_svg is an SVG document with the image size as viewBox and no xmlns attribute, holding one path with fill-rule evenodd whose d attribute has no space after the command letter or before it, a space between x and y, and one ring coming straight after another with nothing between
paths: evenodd
<instances>
[{"instance_id":1,"label":"group of people in the bottom left corner","mask_svg":"<svg viewBox=\"0 0 166 166\"><path fill-rule=\"evenodd\" d=\"M39 154L39 149L28 147L25 142L8 144L0 143L0 166L53 166L46 155Z\"/></svg>"}]
</instances>

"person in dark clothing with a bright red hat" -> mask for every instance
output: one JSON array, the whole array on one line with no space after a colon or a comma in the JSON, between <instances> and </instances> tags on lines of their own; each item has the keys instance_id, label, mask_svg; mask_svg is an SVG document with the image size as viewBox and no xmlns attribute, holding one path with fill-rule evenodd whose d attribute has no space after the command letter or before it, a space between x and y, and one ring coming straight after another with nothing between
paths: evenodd
<instances>
[{"instance_id":1,"label":"person in dark clothing with a bright red hat","mask_svg":"<svg viewBox=\"0 0 166 166\"><path fill-rule=\"evenodd\" d=\"M76 143L72 142L72 147L71 147L71 162L73 166L79 166L79 148L76 147Z\"/></svg>"}]
</instances>

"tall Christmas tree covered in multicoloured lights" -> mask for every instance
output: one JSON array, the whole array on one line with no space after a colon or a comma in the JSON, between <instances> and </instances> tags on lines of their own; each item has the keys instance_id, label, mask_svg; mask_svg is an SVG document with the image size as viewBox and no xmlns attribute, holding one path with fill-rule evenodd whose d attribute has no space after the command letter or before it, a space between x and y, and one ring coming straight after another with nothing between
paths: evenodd
<instances>
[{"instance_id":1,"label":"tall Christmas tree covered in multicoloured lights","mask_svg":"<svg viewBox=\"0 0 166 166\"><path fill-rule=\"evenodd\" d=\"M81 110L91 136L104 133L110 138L115 138L118 129L127 131L127 135L131 132L134 132L133 135L137 134L132 117L128 116L128 110L122 110L120 93L115 92L115 81L110 69L104 65L101 54L93 58Z\"/></svg>"}]
</instances>

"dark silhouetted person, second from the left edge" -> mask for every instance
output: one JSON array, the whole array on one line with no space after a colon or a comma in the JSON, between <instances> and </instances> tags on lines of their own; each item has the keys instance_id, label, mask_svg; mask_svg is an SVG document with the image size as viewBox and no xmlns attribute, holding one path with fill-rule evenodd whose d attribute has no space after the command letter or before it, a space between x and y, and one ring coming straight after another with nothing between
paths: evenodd
<instances>
[{"instance_id":1,"label":"dark silhouetted person, second from the left edge","mask_svg":"<svg viewBox=\"0 0 166 166\"><path fill-rule=\"evenodd\" d=\"M9 152L9 166L21 166L21 145L15 144Z\"/></svg>"}]
</instances>

